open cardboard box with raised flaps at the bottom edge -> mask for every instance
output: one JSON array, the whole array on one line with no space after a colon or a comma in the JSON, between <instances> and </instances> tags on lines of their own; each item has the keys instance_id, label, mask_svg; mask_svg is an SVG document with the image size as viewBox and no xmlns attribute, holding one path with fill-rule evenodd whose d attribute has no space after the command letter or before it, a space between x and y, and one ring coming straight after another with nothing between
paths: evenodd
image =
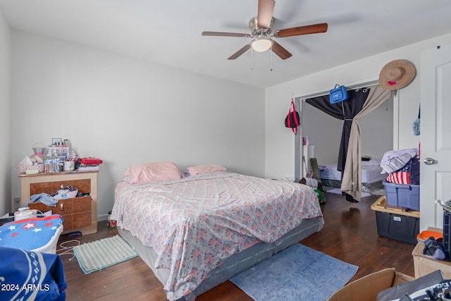
<instances>
[{"instance_id":1,"label":"open cardboard box with raised flaps at the bottom edge","mask_svg":"<svg viewBox=\"0 0 451 301\"><path fill-rule=\"evenodd\" d=\"M382 290L413 280L413 277L398 273L393 268L383 269L345 285L328 301L374 301Z\"/></svg>"}]
</instances>

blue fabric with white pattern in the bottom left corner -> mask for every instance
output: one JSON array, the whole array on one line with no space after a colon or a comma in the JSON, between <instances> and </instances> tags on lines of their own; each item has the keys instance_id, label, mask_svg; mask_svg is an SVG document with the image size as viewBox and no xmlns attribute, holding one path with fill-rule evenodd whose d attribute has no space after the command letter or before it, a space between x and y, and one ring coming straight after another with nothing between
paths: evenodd
<instances>
[{"instance_id":1,"label":"blue fabric with white pattern in the bottom left corner","mask_svg":"<svg viewBox=\"0 0 451 301\"><path fill-rule=\"evenodd\" d=\"M0 300L66 300L66 278L57 254L0 247Z\"/></svg>"}]
</instances>

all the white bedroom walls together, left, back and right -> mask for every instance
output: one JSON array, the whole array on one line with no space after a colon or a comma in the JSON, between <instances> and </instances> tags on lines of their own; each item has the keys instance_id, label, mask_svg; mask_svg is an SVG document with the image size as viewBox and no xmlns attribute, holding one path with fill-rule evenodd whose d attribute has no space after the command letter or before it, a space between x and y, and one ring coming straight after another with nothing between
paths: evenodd
<instances>
[{"instance_id":1,"label":"all the white bedroom walls together, left, back and right","mask_svg":"<svg viewBox=\"0 0 451 301\"><path fill-rule=\"evenodd\" d=\"M9 62L8 40L8 26L0 17L2 66ZM32 154L33 143L49 143L51 137L70 139L81 156L104 159L99 172L101 217L111 209L113 189L125 169L143 161L175 161L181 168L216 163L253 176L291 178L295 138L283 120L292 94L329 90L336 82L375 80L394 59L408 59L420 72L423 49L450 43L451 34L444 35L264 91L13 31L11 79L7 67L0 71L0 104L8 108L11 94L14 116L10 119L5 113L9 109L1 110L2 125L11 120L11 131L4 130L6 122L0 138L7 145L10 137L12 142L12 154L0 154L0 170L11 166L0 179L5 188L11 183L12 193L2 193L10 200L20 195L18 162ZM399 99L394 147L417 147L419 137L412 135L411 124L418 113L418 76L400 90Z\"/></svg>"}]
</instances>

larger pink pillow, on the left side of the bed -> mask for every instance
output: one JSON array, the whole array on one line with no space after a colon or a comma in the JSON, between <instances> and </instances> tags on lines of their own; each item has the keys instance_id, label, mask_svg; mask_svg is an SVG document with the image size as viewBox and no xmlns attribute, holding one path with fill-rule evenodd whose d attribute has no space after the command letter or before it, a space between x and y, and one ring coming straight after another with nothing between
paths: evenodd
<instances>
[{"instance_id":1,"label":"larger pink pillow, on the left side of the bed","mask_svg":"<svg viewBox=\"0 0 451 301\"><path fill-rule=\"evenodd\" d=\"M130 184L144 184L165 180L179 180L182 173L172 162L152 162L136 164L125 171L124 177L131 176Z\"/></svg>"}]
</instances>

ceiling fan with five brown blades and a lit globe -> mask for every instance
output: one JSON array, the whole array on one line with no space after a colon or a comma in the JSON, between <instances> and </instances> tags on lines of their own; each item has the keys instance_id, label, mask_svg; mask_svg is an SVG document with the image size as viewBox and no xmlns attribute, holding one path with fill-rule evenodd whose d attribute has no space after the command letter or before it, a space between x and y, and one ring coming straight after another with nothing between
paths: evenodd
<instances>
[{"instance_id":1,"label":"ceiling fan with five brown blades and a lit globe","mask_svg":"<svg viewBox=\"0 0 451 301\"><path fill-rule=\"evenodd\" d=\"M286 28L283 30L276 30L273 32L274 18L273 11L276 1L274 0L259 0L258 15L249 21L250 34L235 33L235 32L211 32L204 31L202 35L213 37L245 37L252 38L252 41L247 43L242 49L238 50L230 56L229 60L237 59L249 49L263 52L271 49L277 54L280 59L288 59L292 54L283 48L278 42L274 41L274 37L292 37L295 35L310 35L313 33L321 33L327 31L327 23L319 23L314 25L299 26Z\"/></svg>"}]
</instances>

